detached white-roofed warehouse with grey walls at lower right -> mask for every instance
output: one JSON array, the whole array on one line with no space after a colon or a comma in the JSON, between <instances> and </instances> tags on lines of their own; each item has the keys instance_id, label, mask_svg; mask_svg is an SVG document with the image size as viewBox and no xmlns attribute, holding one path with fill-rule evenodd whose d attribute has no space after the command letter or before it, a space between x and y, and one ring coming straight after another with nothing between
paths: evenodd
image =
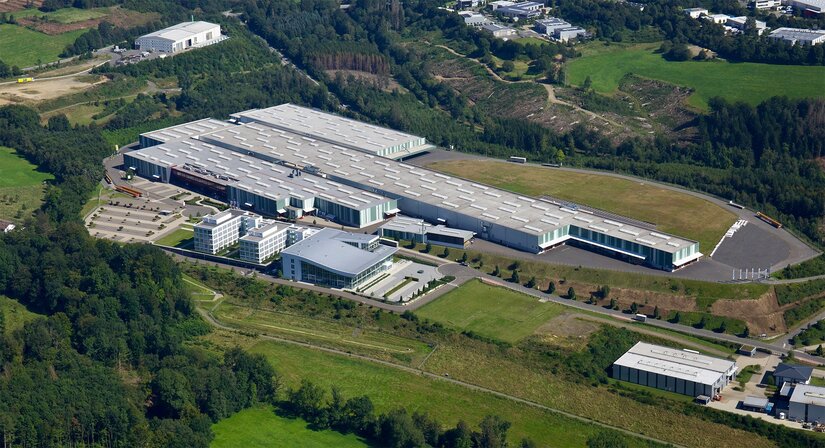
<instances>
[{"instance_id":1,"label":"detached white-roofed warehouse with grey walls at lower right","mask_svg":"<svg viewBox=\"0 0 825 448\"><path fill-rule=\"evenodd\" d=\"M613 363L613 378L678 394L713 397L736 375L736 363L692 350L638 342Z\"/></svg>"}]
</instances>

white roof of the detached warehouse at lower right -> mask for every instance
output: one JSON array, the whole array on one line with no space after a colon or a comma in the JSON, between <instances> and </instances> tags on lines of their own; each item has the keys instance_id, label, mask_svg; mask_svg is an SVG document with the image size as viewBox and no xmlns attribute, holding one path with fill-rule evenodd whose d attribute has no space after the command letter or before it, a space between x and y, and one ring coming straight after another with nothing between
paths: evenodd
<instances>
[{"instance_id":1,"label":"white roof of the detached warehouse at lower right","mask_svg":"<svg viewBox=\"0 0 825 448\"><path fill-rule=\"evenodd\" d=\"M736 372L733 361L645 342L637 342L613 365L709 385Z\"/></svg>"}]
</instances>

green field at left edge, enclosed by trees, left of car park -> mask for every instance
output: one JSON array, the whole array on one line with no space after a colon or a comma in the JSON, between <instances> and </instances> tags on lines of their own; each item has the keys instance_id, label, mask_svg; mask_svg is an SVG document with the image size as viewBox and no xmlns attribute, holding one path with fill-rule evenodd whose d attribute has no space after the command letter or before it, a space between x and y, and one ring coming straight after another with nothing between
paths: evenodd
<instances>
[{"instance_id":1,"label":"green field at left edge, enclosed by trees, left of car park","mask_svg":"<svg viewBox=\"0 0 825 448\"><path fill-rule=\"evenodd\" d=\"M0 146L0 218L19 221L40 206L43 183L52 176Z\"/></svg>"}]
</instances>

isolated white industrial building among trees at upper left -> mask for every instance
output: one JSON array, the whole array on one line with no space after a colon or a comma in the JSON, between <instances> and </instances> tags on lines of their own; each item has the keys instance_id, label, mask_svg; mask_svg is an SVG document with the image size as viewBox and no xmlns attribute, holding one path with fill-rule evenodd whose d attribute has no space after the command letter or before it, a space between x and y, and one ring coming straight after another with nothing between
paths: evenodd
<instances>
[{"instance_id":1,"label":"isolated white industrial building among trees at upper left","mask_svg":"<svg viewBox=\"0 0 825 448\"><path fill-rule=\"evenodd\" d=\"M183 22L154 33L140 36L135 48L142 51L177 53L187 48L203 47L225 39L221 26L209 22Z\"/></svg>"}]
</instances>

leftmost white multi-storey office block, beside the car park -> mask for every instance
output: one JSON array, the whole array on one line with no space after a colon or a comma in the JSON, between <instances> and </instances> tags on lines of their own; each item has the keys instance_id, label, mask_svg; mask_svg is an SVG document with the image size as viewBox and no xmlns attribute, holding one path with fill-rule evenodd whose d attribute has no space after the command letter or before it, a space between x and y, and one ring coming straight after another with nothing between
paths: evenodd
<instances>
[{"instance_id":1,"label":"leftmost white multi-storey office block, beside the car park","mask_svg":"<svg viewBox=\"0 0 825 448\"><path fill-rule=\"evenodd\" d=\"M217 254L238 242L247 229L258 227L263 218L242 210L225 210L204 216L195 224L195 250Z\"/></svg>"}]
</instances>

